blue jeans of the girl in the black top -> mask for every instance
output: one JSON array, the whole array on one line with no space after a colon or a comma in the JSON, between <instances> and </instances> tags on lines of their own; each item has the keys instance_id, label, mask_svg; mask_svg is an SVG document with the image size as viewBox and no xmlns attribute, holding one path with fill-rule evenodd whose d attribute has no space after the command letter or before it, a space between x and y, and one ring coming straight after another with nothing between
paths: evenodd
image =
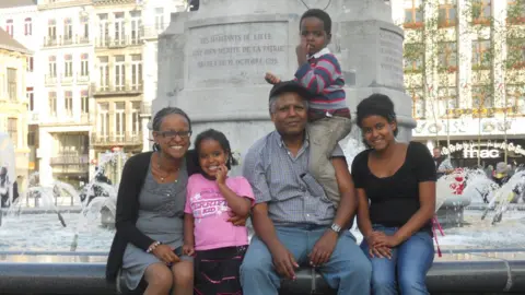
<instances>
[{"instance_id":1,"label":"blue jeans of the girl in the black top","mask_svg":"<svg viewBox=\"0 0 525 295\"><path fill-rule=\"evenodd\" d=\"M397 227L374 226L374 231L386 235L394 235L397 229ZM364 239L361 243L361 249L372 261L373 295L429 294L425 279L434 261L434 244L429 233L418 232L392 249L392 259L370 258L369 245Z\"/></svg>"}]
</instances>

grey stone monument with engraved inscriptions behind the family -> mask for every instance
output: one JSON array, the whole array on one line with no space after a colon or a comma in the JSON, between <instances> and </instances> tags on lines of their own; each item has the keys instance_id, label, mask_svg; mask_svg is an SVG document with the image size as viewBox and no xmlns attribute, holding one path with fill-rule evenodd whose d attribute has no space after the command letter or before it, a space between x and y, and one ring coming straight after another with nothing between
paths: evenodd
<instances>
[{"instance_id":1,"label":"grey stone monument with engraved inscriptions behind the family","mask_svg":"<svg viewBox=\"0 0 525 295\"><path fill-rule=\"evenodd\" d=\"M172 14L159 37L159 85L152 115L180 107L194 133L223 131L242 155L273 129L267 71L283 80L298 68L300 17L308 8L332 19L329 46L346 76L349 107L372 93L388 95L407 141L416 122L402 82L402 30L380 0L201 0L199 11ZM354 128L357 130L357 128ZM359 137L353 134L353 137Z\"/></svg>"}]
</instances>

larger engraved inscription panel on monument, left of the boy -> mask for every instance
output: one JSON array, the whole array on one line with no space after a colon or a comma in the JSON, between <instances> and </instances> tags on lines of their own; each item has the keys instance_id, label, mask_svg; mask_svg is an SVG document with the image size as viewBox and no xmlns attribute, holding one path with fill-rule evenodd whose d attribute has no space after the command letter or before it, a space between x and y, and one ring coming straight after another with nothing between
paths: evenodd
<instances>
[{"instance_id":1,"label":"larger engraved inscription panel on monument, left of the boy","mask_svg":"<svg viewBox=\"0 0 525 295\"><path fill-rule=\"evenodd\" d=\"M288 68L288 23L238 23L190 30L188 81L266 83L270 71L280 76Z\"/></svg>"}]
</instances>

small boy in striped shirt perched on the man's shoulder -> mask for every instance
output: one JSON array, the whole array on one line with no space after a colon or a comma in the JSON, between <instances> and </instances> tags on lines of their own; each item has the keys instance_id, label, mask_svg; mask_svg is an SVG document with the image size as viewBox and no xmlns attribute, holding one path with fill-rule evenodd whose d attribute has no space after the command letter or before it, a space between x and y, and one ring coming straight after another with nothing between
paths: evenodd
<instances>
[{"instance_id":1,"label":"small boy in striped shirt perched on the man's shoulder","mask_svg":"<svg viewBox=\"0 0 525 295\"><path fill-rule=\"evenodd\" d=\"M330 154L351 131L345 80L336 56L326 47L331 39L331 19L323 10L311 9L301 16L301 44L296 47L299 69L295 81L313 93L310 99L308 133L312 139L308 169L323 186L326 196L339 205ZM271 84L280 79L266 74Z\"/></svg>"}]
</instances>

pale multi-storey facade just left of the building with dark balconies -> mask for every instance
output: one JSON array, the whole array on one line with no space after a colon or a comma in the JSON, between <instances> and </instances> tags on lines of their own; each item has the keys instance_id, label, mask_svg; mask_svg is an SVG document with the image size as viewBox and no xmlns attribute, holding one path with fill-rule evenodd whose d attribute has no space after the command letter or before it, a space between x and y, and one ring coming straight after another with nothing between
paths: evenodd
<instances>
[{"instance_id":1,"label":"pale multi-storey facade just left of the building with dark balconies","mask_svg":"<svg viewBox=\"0 0 525 295\"><path fill-rule=\"evenodd\" d=\"M40 47L35 88L39 180L80 187L90 179L90 132L94 122L90 96L94 72L95 27L89 0L38 2ZM93 169L93 168L92 168Z\"/></svg>"}]
</instances>

